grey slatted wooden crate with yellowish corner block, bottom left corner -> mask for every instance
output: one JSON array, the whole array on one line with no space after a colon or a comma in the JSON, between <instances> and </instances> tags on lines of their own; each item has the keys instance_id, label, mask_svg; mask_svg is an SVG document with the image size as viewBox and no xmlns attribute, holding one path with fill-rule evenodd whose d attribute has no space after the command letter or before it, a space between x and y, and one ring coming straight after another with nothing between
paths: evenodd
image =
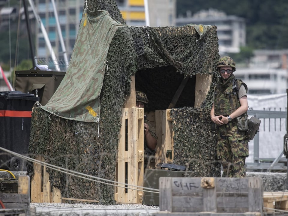
<instances>
[{"instance_id":1,"label":"grey slatted wooden crate with yellowish corner block, bottom left corner","mask_svg":"<svg viewBox=\"0 0 288 216\"><path fill-rule=\"evenodd\" d=\"M30 178L18 177L18 193L0 193L0 215L19 215L30 213Z\"/></svg>"}]
</instances>

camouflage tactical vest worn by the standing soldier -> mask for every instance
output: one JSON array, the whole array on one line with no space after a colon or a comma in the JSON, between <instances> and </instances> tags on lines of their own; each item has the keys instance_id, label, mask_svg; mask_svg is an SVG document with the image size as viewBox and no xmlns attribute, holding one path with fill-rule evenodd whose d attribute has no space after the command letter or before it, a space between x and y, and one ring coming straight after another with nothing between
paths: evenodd
<instances>
[{"instance_id":1,"label":"camouflage tactical vest worn by the standing soldier","mask_svg":"<svg viewBox=\"0 0 288 216\"><path fill-rule=\"evenodd\" d=\"M238 99L238 90L240 86L243 84L246 92L247 92L247 85L242 82L241 79L230 79L227 83L215 86L214 89L214 115L215 116L228 116L237 110L237 104L240 106L240 101ZM237 101L236 101L237 100Z\"/></svg>"}]
</instances>

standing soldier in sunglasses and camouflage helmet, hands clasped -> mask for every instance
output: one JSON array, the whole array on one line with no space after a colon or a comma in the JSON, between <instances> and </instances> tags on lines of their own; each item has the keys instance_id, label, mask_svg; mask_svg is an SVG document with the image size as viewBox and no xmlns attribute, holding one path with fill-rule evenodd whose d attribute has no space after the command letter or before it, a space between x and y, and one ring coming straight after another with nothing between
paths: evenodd
<instances>
[{"instance_id":1,"label":"standing soldier in sunglasses and camouflage helmet, hands clasped","mask_svg":"<svg viewBox=\"0 0 288 216\"><path fill-rule=\"evenodd\" d=\"M229 56L217 63L219 83L214 89L214 104L210 117L218 125L217 156L223 167L223 177L246 177L244 168L249 155L247 131L247 85L236 80L236 64Z\"/></svg>"}]
</instances>

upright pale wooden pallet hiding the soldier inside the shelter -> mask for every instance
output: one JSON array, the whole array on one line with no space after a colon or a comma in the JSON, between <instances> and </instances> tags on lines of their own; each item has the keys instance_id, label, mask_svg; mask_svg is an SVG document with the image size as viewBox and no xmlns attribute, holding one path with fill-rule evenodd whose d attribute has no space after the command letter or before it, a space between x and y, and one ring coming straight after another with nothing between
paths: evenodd
<instances>
[{"instance_id":1,"label":"upright pale wooden pallet hiding the soldier inside the shelter","mask_svg":"<svg viewBox=\"0 0 288 216\"><path fill-rule=\"evenodd\" d=\"M116 161L115 200L142 203L144 185L144 109L122 108ZM137 190L140 189L140 190Z\"/></svg>"}]
</instances>

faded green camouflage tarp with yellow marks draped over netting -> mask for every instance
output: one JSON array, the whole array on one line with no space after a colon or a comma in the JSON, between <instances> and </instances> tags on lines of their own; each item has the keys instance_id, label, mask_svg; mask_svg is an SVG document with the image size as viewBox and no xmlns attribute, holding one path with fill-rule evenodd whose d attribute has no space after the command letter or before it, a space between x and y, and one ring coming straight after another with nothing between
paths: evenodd
<instances>
[{"instance_id":1,"label":"faded green camouflage tarp with yellow marks draped over netting","mask_svg":"<svg viewBox=\"0 0 288 216\"><path fill-rule=\"evenodd\" d=\"M83 13L66 75L42 109L64 119L98 122L109 44L121 26L107 11Z\"/></svg>"}]
</instances>

